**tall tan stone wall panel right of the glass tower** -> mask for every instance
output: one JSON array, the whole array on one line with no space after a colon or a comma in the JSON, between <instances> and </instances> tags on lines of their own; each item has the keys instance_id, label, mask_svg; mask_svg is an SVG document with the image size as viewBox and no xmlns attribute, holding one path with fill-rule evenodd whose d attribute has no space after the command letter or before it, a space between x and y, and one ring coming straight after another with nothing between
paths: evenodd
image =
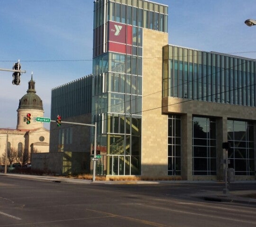
<instances>
[{"instance_id":1,"label":"tall tan stone wall panel right of the glass tower","mask_svg":"<svg viewBox=\"0 0 256 227\"><path fill-rule=\"evenodd\" d=\"M167 115L162 115L162 47L168 33L143 29L142 176L166 176Z\"/></svg>"}]
</instances>

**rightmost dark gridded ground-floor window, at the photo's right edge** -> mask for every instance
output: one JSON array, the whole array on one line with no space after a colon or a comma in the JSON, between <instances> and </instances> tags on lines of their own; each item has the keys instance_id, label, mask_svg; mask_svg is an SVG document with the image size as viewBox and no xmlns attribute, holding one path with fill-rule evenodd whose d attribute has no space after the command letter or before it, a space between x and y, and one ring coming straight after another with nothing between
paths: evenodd
<instances>
[{"instance_id":1,"label":"rightmost dark gridded ground-floor window, at the photo's right edge","mask_svg":"<svg viewBox=\"0 0 256 227\"><path fill-rule=\"evenodd\" d=\"M254 175L254 129L252 122L227 121L229 168L235 175Z\"/></svg>"}]
</instances>

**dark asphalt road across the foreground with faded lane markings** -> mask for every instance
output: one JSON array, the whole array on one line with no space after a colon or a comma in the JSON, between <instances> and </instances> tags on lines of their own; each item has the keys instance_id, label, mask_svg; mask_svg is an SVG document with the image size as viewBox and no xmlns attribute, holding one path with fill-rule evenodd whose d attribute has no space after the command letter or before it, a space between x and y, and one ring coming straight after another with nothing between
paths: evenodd
<instances>
[{"instance_id":1,"label":"dark asphalt road across the foreground with faded lane markings","mask_svg":"<svg viewBox=\"0 0 256 227\"><path fill-rule=\"evenodd\" d=\"M201 196L222 189L218 183L83 185L0 176L0 226L256 226L256 207Z\"/></svg>"}]
</instances>

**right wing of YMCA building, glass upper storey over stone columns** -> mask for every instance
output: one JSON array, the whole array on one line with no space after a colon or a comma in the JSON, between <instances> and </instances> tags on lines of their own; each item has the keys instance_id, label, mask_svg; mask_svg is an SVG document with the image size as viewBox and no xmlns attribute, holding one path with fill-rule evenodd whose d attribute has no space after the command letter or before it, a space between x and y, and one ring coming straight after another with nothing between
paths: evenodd
<instances>
[{"instance_id":1,"label":"right wing of YMCA building, glass upper storey over stone columns","mask_svg":"<svg viewBox=\"0 0 256 227\"><path fill-rule=\"evenodd\" d=\"M171 45L164 46L163 53L164 109L178 113L169 116L169 173L181 172L186 143L189 153L184 156L191 160L192 178L222 174L221 145L228 141L229 168L236 176L254 176L255 60ZM182 118L189 118L186 124L191 127L183 141L177 139Z\"/></svg>"}]
</instances>

